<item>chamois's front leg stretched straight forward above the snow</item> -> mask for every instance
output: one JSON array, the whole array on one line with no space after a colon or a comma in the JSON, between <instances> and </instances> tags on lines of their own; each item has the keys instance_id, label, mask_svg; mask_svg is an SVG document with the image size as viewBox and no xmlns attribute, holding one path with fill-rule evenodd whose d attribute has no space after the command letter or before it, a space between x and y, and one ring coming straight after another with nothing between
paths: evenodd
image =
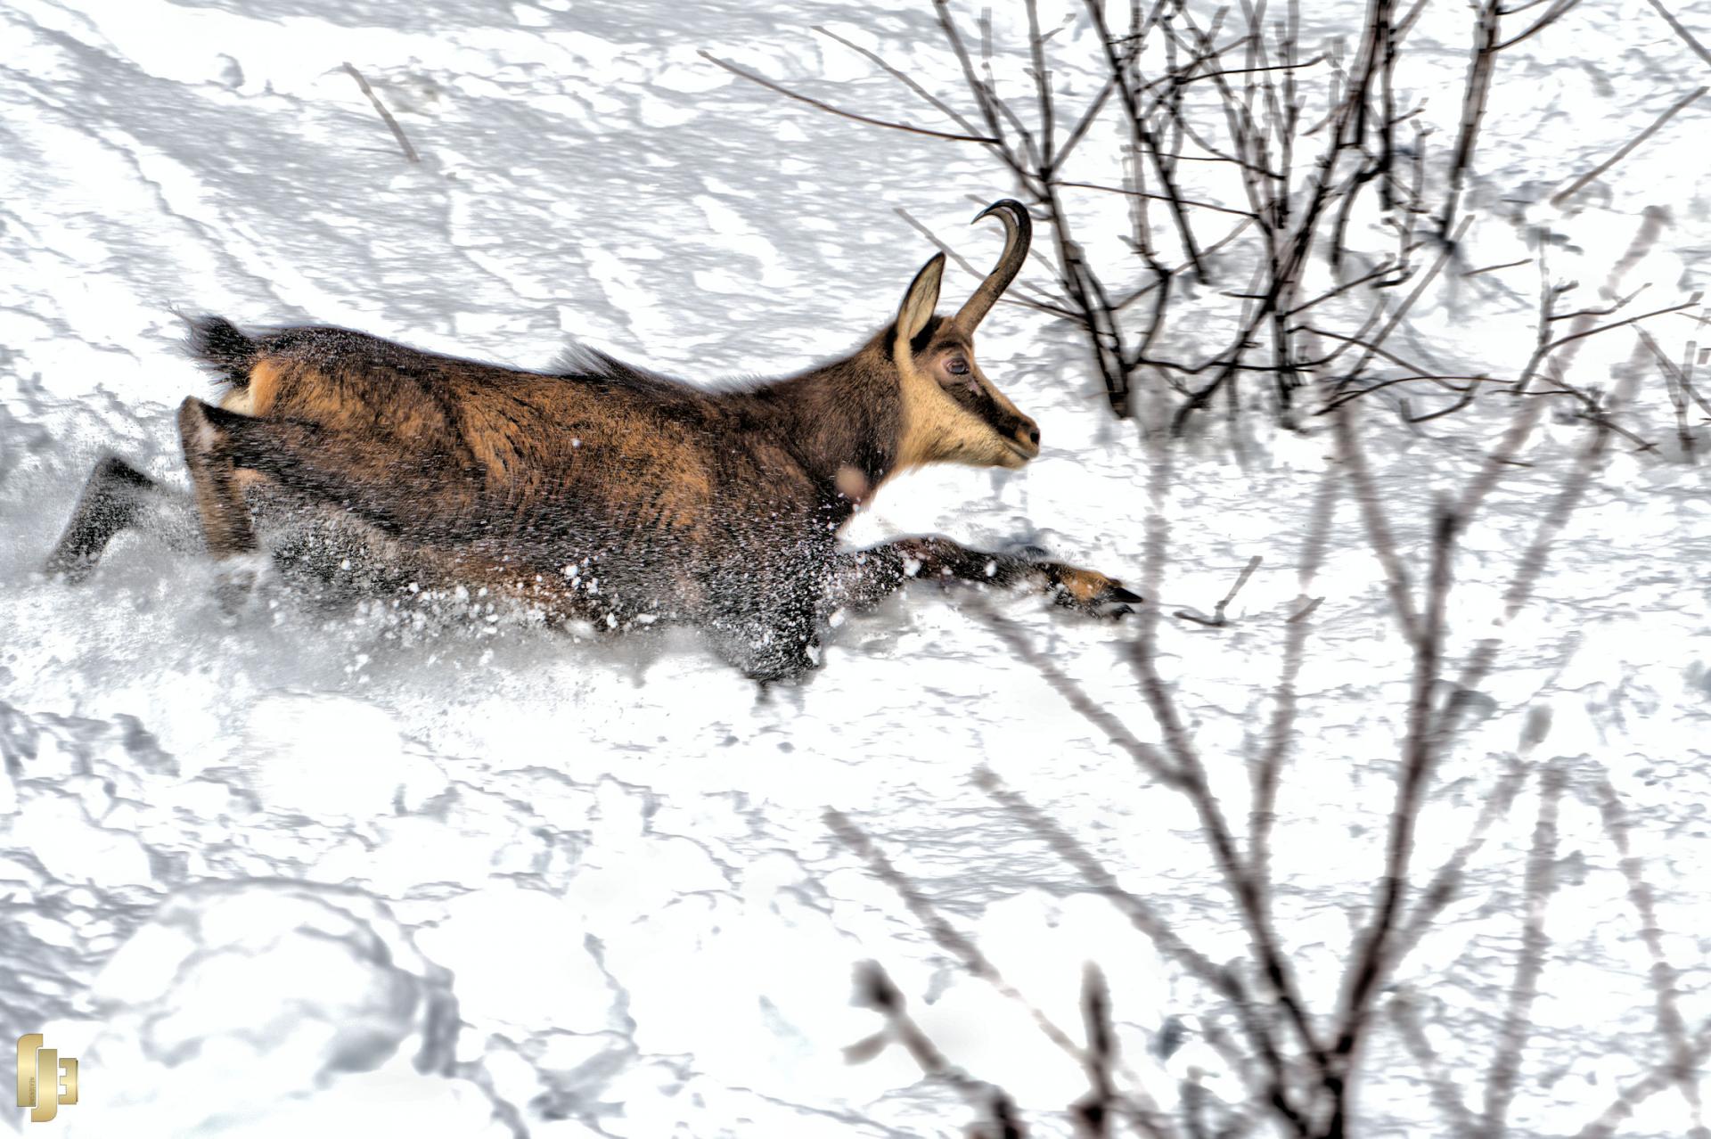
<instances>
[{"instance_id":1,"label":"chamois's front leg stretched straight forward above the snow","mask_svg":"<svg viewBox=\"0 0 1711 1139\"><path fill-rule=\"evenodd\" d=\"M941 537L898 539L838 554L832 600L835 605L873 605L910 578L1032 587L1051 593L1059 605L1098 616L1122 616L1129 612L1129 604L1141 600L1140 593L1122 588L1122 581L1093 570L1018 554L991 554Z\"/></svg>"}]
</instances>

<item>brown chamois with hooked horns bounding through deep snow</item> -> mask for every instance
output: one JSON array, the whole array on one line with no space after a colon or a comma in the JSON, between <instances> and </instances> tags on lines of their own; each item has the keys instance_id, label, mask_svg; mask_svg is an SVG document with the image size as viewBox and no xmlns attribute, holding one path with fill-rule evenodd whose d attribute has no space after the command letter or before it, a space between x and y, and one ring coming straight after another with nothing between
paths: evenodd
<instances>
[{"instance_id":1,"label":"brown chamois with hooked horns bounding through deep snow","mask_svg":"<svg viewBox=\"0 0 1711 1139\"><path fill-rule=\"evenodd\" d=\"M412 578L484 585L597 629L688 621L758 679L813 667L832 612L910 576L1025 583L1124 612L1140 597L1117 580L1056 561L943 537L838 549L840 527L902 470L1016 469L1040 451L1039 426L974 359L1032 238L1018 202L975 221L987 215L1004 251L955 316L934 315L939 253L850 356L715 390L602 352L518 371L347 328L252 335L192 318L190 352L224 385L217 405L192 395L178 409L207 549L241 593L267 559L257 523L335 516ZM101 460L48 571L86 576L152 494L147 475Z\"/></svg>"}]
</instances>

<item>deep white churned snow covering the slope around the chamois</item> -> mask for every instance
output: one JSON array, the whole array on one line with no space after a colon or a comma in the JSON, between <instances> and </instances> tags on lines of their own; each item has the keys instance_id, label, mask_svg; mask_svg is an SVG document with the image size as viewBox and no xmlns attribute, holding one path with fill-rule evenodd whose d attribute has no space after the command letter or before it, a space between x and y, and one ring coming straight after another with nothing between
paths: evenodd
<instances>
[{"instance_id":1,"label":"deep white churned snow covering the slope around the chamois","mask_svg":"<svg viewBox=\"0 0 1711 1139\"><path fill-rule=\"evenodd\" d=\"M1359 29L1360 3L1307 7L1304 43ZM1410 82L1448 133L1468 17L1429 7ZM1711 43L1711 9L1677 7ZM1023 43L1020 9L998 9L994 39ZM926 3L7 0L0 1035L44 1031L82 1071L80 1101L51 1125L24 1112L9 1125L101 1139L960 1136L968 1108L902 1048L844 1059L879 1026L852 1004L856 966L876 959L956 1064L1018 1098L1033 1134L1069 1134L1081 1072L932 942L833 838L828 807L1066 1031L1080 1031L1081 963L1095 959L1131 1076L1160 1103L1194 1067L1228 1089L1194 1031L1205 994L972 783L989 768L1210 958L1242 954L1194 812L1015 648L1157 741L1126 653L1133 617L915 587L850 616L821 670L761 693L688 633L573 643L479 597L329 611L287 595L234 623L209 563L159 535L121 537L79 588L38 573L104 450L188 486L173 409L207 383L175 310L339 323L518 366L578 339L713 380L796 371L890 320L932 253L895 207L991 263L998 227L967 221L1015 190L984 154L828 118L696 55L927 121L813 24L956 91ZM1063 32L1086 34L1085 21ZM1057 80L1090 82L1068 67ZM1564 236L1550 272L1581 280L1576 304L1600 303L1607 280L1646 284L1646 308L1711 284L1711 101L1548 204L1702 82L1711 65L1646 3L1586 0L1506 53L1468 190L1471 260L1530 258L1528 226L1550 226ZM1661 236L1619 267L1651 207ZM1035 250L1023 282L1049 287L1044 227ZM1410 349L1513 376L1533 344L1538 267L1458 275L1471 267L1422 299ZM943 306L972 286L951 270ZM1213 291L1205 303L1179 298L1179 344L1215 320ZM1694 335L1711 342L1687 316L1649 328L1673 359ZM1593 337L1567 375L1610 388L1634 344ZM1331 1006L1377 874L1410 677L1347 493L1324 564L1299 575L1331 433L1280 434L1256 416L1237 458L1217 426L1174 448L1165 482L1066 327L999 306L980 359L1040 421L1042 457L900 479L852 540L1033 542L1145 583L1158 667L1237 819L1285 619L1323 597L1273 877L1285 946L1311 1000ZM1559 889L1516 1136L1576 1132L1665 1055L1653 961L1600 821L1605 783L1631 821L1680 1014L1689 1031L1711 1016L1711 486L1680 462L1656 369L1634 375L1631 422L1663 453L1612 440L1535 599L1502 624L1480 720L1439 768L1420 833L1425 862L1453 850L1528 711L1548 713L1526 763L1566 780ZM1506 407L1406 433L1379 398L1364 405L1415 581L1427 505L1471 477ZM1451 674L1501 617L1590 436L1547 412L1531 465L1466 532ZM1155 511L1169 547L1150 571ZM1211 612L1256 554L1227 628L1172 616ZM1538 787L1530 776L1494 823L1463 900L1396 978L1470 1088L1511 978ZM1376 1048L1364 1079L1353 1134L1446 1134L1405 1053ZM1675 1086L1619 1134L1696 1122Z\"/></svg>"}]
</instances>

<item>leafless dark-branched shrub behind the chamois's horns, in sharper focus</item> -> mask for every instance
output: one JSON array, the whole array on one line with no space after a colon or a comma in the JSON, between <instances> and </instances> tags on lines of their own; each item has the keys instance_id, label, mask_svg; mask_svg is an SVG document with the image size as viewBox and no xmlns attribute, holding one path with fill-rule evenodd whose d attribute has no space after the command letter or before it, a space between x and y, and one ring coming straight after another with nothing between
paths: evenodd
<instances>
[{"instance_id":1,"label":"leafless dark-branched shrub behind the chamois's horns, in sharper focus","mask_svg":"<svg viewBox=\"0 0 1711 1139\"><path fill-rule=\"evenodd\" d=\"M1413 359L1398 330L1444 287L1446 269L1463 280L1525 263L1471 258L1466 186L1504 53L1550 34L1578 2L1470 5L1453 139L1432 133L1427 108L1401 79L1427 5L1396 0L1369 0L1359 34L1319 50L1302 43L1297 0L1217 10L1187 0L1085 0L1056 27L1042 26L1040 0L1023 0L1027 41L1009 44L994 44L991 12L965 17L934 0L962 79L955 94L814 29L907 87L944 128L861 115L708 58L847 120L986 149L1052 234L1054 289L1011 303L1080 330L1119 417L1143 416L1179 434L1215 405L1232 417L1261 405L1297 428L1340 402L1389 392L1405 421L1424 422L1483 390L1528 390L1528 375L1495 381L1477 366L1459 375ZM1704 94L1684 96L1552 202L1605 178ZM1117 168L1117 185L1100 180ZM1112 198L1128 205L1126 229L1110 226ZM1548 239L1533 234L1540 257ZM1196 320L1184 330L1189 310ZM1543 337L1535 364L1567 342ZM1670 385L1672 398L1689 398L1687 385ZM1600 414L1595 397L1566 385L1562 393Z\"/></svg>"}]
</instances>

